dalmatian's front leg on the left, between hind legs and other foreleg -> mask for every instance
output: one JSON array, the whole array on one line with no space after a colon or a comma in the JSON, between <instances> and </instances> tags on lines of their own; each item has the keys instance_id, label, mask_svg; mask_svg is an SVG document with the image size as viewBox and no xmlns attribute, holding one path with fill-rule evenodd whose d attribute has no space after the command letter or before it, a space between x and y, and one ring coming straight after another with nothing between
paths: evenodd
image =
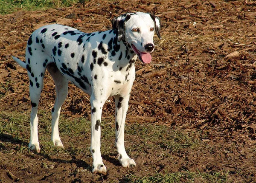
<instances>
[{"instance_id":1,"label":"dalmatian's front leg on the left, between hind legs and other foreleg","mask_svg":"<svg viewBox=\"0 0 256 183\"><path fill-rule=\"evenodd\" d=\"M100 123L102 115L102 107L105 100L96 99L96 97L91 96L91 146L90 150L93 157L93 173L103 174L107 173L106 166L103 164L102 156L100 152Z\"/></svg>"}]
</instances>

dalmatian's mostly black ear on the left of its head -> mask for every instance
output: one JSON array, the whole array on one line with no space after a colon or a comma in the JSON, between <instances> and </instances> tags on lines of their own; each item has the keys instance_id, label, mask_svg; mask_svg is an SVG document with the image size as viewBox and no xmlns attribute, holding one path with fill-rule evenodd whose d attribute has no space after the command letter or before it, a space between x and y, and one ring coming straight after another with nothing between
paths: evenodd
<instances>
[{"instance_id":1,"label":"dalmatian's mostly black ear on the left of its head","mask_svg":"<svg viewBox=\"0 0 256 183\"><path fill-rule=\"evenodd\" d=\"M125 22L131 18L131 15L126 13L115 17L111 20L113 31L116 34L117 41L120 42L125 36Z\"/></svg>"}]
</instances>

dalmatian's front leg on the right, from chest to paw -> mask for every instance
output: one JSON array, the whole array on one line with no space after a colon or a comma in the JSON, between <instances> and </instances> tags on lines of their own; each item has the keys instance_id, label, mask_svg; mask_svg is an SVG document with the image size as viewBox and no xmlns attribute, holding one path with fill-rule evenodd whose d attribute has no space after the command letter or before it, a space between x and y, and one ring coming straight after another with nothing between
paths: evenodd
<instances>
[{"instance_id":1,"label":"dalmatian's front leg on the right, from chest to paw","mask_svg":"<svg viewBox=\"0 0 256 183\"><path fill-rule=\"evenodd\" d=\"M115 96L116 103L116 148L119 154L119 162L123 167L133 167L136 163L129 158L124 145L125 118L128 110L128 101L130 95Z\"/></svg>"}]
</instances>

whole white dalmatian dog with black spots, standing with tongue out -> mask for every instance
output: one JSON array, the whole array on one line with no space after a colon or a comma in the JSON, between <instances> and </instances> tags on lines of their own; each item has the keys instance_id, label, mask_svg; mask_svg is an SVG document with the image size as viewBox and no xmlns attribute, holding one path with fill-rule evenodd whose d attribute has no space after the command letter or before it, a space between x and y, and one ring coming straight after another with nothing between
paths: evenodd
<instances>
[{"instance_id":1,"label":"whole white dalmatian dog with black spots, standing with tongue out","mask_svg":"<svg viewBox=\"0 0 256 183\"><path fill-rule=\"evenodd\" d=\"M123 167L136 166L124 146L125 117L135 79L137 57L148 64L154 51L153 36L160 37L160 19L150 13L125 13L112 20L113 29L84 33L64 25L46 25L35 30L26 46L26 61L13 57L29 76L32 105L29 148L40 152L38 141L38 103L46 69L55 83L56 99L52 108L51 141L63 147L58 132L61 105L66 99L68 82L90 95L91 146L93 173L107 170L100 152L102 107L109 96L116 104L116 148Z\"/></svg>"}]
</instances>

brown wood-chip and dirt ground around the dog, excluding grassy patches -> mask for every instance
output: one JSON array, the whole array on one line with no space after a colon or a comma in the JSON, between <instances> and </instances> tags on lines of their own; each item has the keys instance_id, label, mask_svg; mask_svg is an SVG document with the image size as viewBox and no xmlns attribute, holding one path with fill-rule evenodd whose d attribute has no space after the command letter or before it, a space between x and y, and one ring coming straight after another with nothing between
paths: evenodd
<instances>
[{"instance_id":1,"label":"brown wood-chip and dirt ground around the dog, excluding grassy patches","mask_svg":"<svg viewBox=\"0 0 256 183\"><path fill-rule=\"evenodd\" d=\"M70 8L18 11L0 16L0 110L30 111L26 71L17 66L11 55L24 60L26 41L35 29L59 23L84 32L104 31L111 28L111 18L134 11L152 12L159 16L163 39L155 37L156 49L151 65L142 65L137 61L127 123L166 125L172 129L197 131L201 134L201 141L213 147L210 152L207 149L179 152L177 157L180 159L174 160L175 166L170 161L158 162L159 166L169 167L166 169L170 172L184 167L200 172L224 169L229 174L230 182L256 182L254 1L129 0L117 3L95 0ZM50 111L53 106L55 91L52 86L53 81L47 74L41 109ZM103 118L114 115L113 99L110 100L104 106ZM62 114L90 118L89 96L70 84ZM3 141L3 135L0 141ZM6 182L15 181L6 174L8 170L17 171L16 176L29 174L27 180L26 177L20 179L24 182L30 182L31 175L38 175L32 167L28 173L26 169L15 169L15 164L4 165L9 156L2 153L0 157L0 162L3 161L0 172ZM29 160L32 157L26 158ZM66 167L61 167L59 171L73 164L63 166ZM109 180L122 173L118 169L119 166L113 167L113 174L108 174ZM140 169L140 166L136 167L137 171ZM57 175L60 176L55 173L49 181L58 182ZM88 172L88 176L93 175ZM72 182L74 177L67 176L65 181Z\"/></svg>"}]
</instances>

